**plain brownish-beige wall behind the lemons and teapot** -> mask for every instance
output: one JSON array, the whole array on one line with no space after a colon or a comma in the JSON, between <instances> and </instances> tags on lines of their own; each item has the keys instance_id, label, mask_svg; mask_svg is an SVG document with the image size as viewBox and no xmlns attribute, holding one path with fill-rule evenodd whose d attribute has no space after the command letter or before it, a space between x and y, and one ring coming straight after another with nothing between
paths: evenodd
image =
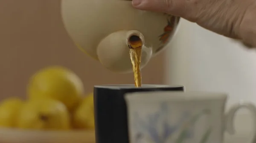
<instances>
[{"instance_id":1,"label":"plain brownish-beige wall behind the lemons and teapot","mask_svg":"<svg viewBox=\"0 0 256 143\"><path fill-rule=\"evenodd\" d=\"M143 69L143 83L163 82L163 58ZM0 0L0 99L25 97L29 76L54 64L76 72L86 92L95 84L134 83L132 74L111 73L73 45L61 23L60 0Z\"/></svg>"}]
</instances>

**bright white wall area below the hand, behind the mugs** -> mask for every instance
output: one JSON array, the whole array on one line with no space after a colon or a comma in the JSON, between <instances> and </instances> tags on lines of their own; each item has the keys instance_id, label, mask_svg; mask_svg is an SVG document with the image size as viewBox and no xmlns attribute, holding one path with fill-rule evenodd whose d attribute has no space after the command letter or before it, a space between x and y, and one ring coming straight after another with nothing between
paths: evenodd
<instances>
[{"instance_id":1,"label":"bright white wall area below the hand, behind the mugs","mask_svg":"<svg viewBox=\"0 0 256 143\"><path fill-rule=\"evenodd\" d=\"M166 53L167 84L227 92L228 105L240 100L256 103L256 51L182 20Z\"/></svg>"}]
</instances>

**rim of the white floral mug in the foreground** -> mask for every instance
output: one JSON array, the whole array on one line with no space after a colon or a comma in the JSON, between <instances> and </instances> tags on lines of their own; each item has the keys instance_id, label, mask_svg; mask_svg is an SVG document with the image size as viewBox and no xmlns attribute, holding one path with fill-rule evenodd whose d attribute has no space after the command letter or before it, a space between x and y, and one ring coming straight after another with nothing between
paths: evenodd
<instances>
[{"instance_id":1,"label":"rim of the white floral mug in the foreground","mask_svg":"<svg viewBox=\"0 0 256 143\"><path fill-rule=\"evenodd\" d=\"M206 91L156 91L156 92L134 92L126 93L127 101L202 101L202 100L225 100L227 93Z\"/></svg>"}]
</instances>

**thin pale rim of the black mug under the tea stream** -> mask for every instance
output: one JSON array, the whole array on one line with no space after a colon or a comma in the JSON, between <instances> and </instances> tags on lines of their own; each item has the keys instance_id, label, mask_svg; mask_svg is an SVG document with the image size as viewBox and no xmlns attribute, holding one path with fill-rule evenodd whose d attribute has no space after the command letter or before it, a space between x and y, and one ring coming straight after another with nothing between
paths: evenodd
<instances>
[{"instance_id":1,"label":"thin pale rim of the black mug under the tea stream","mask_svg":"<svg viewBox=\"0 0 256 143\"><path fill-rule=\"evenodd\" d=\"M165 84L142 84L142 87L135 87L134 84L102 84L95 85L94 88L105 89L148 89L148 88L179 88L183 85L165 85Z\"/></svg>"}]
</instances>

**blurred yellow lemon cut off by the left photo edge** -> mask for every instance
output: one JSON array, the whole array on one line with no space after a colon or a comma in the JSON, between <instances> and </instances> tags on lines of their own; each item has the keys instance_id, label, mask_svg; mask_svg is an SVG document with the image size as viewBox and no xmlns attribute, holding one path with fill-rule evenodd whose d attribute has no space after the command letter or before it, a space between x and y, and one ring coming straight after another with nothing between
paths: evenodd
<instances>
[{"instance_id":1,"label":"blurred yellow lemon cut off by the left photo edge","mask_svg":"<svg viewBox=\"0 0 256 143\"><path fill-rule=\"evenodd\" d=\"M0 127L15 127L22 104L18 98L8 98L0 103Z\"/></svg>"}]
</instances>

